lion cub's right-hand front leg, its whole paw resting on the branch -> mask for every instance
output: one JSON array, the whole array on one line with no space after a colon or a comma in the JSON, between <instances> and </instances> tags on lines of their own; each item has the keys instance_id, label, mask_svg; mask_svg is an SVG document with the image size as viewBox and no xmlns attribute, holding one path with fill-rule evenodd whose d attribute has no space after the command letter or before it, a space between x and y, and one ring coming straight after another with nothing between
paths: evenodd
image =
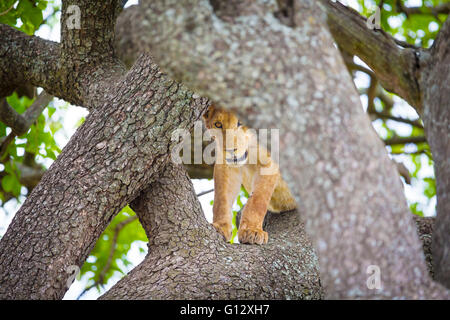
<instances>
[{"instance_id":1,"label":"lion cub's right-hand front leg, its whole paw resting on the branch","mask_svg":"<svg viewBox=\"0 0 450 320\"><path fill-rule=\"evenodd\" d=\"M278 181L278 174L257 174L253 182L253 192L245 204L239 224L240 243L265 244L269 237L262 228L267 207Z\"/></svg>"}]
</instances>

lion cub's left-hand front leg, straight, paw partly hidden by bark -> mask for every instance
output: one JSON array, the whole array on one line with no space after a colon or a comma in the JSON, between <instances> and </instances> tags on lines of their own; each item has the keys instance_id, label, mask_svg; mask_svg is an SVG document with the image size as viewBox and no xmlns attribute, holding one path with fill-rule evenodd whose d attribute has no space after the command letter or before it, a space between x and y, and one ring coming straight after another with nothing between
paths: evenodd
<instances>
[{"instance_id":1,"label":"lion cub's left-hand front leg, straight, paw partly hidden by bark","mask_svg":"<svg viewBox=\"0 0 450 320\"><path fill-rule=\"evenodd\" d=\"M241 190L241 169L227 165L214 166L213 226L230 241L232 234L231 208Z\"/></svg>"}]
</instances>

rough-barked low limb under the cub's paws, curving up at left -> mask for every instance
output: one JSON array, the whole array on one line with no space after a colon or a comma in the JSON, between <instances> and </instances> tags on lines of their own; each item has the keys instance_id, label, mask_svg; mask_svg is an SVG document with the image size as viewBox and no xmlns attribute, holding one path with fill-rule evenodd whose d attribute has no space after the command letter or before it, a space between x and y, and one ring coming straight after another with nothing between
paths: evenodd
<instances>
[{"instance_id":1,"label":"rough-barked low limb under the cub's paws, curving up at left","mask_svg":"<svg viewBox=\"0 0 450 320\"><path fill-rule=\"evenodd\" d=\"M145 260L102 299L319 299L317 257L296 212L266 219L267 245L229 244L206 221L183 167L169 164L131 207Z\"/></svg>"}]
</instances>

